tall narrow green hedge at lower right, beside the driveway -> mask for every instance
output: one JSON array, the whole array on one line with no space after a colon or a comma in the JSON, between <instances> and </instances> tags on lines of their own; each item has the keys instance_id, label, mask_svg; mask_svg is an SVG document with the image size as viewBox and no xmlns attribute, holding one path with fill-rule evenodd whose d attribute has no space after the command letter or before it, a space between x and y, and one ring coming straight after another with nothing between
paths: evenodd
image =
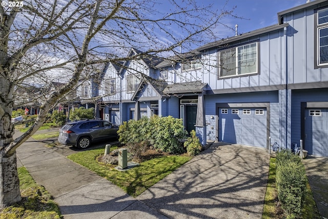
<instances>
[{"instance_id":1,"label":"tall narrow green hedge at lower right, beside the driveway","mask_svg":"<svg viewBox=\"0 0 328 219\"><path fill-rule=\"evenodd\" d=\"M308 179L301 158L290 150L277 153L276 187L286 218L300 216Z\"/></svg>"}]
</instances>

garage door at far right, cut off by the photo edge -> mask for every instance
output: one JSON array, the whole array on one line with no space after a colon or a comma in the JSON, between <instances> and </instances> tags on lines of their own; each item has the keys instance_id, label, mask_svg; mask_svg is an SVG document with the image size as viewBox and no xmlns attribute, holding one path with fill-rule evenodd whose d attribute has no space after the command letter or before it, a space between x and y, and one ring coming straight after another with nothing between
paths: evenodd
<instances>
[{"instance_id":1,"label":"garage door at far right, cut off by the photo edge","mask_svg":"<svg viewBox=\"0 0 328 219\"><path fill-rule=\"evenodd\" d=\"M328 109L305 110L305 149L309 154L328 156Z\"/></svg>"}]
</instances>

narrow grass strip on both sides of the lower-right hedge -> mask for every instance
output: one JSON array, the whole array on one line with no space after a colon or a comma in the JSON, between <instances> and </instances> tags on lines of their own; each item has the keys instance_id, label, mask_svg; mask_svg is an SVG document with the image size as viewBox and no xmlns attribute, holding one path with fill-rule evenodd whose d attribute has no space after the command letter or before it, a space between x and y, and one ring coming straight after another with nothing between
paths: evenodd
<instances>
[{"instance_id":1,"label":"narrow grass strip on both sides of the lower-right hedge","mask_svg":"<svg viewBox=\"0 0 328 219\"><path fill-rule=\"evenodd\" d=\"M302 218L321 218L313 198L311 187L308 183L305 202L302 209ZM276 189L276 158L271 157L269 168L269 179L267 192L264 198L262 218L282 218L283 211L277 209L277 189Z\"/></svg>"}]
</instances>

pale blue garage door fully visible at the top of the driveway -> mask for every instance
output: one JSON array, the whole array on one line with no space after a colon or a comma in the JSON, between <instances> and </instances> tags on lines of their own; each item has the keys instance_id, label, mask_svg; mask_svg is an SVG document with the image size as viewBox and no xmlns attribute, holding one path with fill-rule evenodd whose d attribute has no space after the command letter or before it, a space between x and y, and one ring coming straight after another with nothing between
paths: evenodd
<instances>
[{"instance_id":1,"label":"pale blue garage door fully visible at the top of the driveway","mask_svg":"<svg viewBox=\"0 0 328 219\"><path fill-rule=\"evenodd\" d=\"M219 108L219 141L267 147L266 108Z\"/></svg>"}]
</instances>

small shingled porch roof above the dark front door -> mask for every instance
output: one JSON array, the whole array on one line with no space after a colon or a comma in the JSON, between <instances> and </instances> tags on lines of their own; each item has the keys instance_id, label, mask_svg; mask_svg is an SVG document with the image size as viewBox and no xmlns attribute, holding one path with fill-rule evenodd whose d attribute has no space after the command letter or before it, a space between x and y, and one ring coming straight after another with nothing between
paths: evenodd
<instances>
[{"instance_id":1,"label":"small shingled porch roof above the dark front door","mask_svg":"<svg viewBox=\"0 0 328 219\"><path fill-rule=\"evenodd\" d=\"M186 82L168 85L163 92L166 94L176 94L176 93L199 93L202 92L207 87L207 83L202 83L201 81L196 82Z\"/></svg>"}]
</instances>

